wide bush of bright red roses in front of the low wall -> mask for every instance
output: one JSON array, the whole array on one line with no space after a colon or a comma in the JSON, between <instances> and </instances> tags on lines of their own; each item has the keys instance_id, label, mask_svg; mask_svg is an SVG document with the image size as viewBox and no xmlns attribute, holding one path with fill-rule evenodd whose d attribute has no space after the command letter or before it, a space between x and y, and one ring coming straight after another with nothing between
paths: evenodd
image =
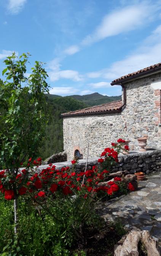
<instances>
[{"instance_id":1,"label":"wide bush of bright red roses in front of the low wall","mask_svg":"<svg viewBox=\"0 0 161 256\"><path fill-rule=\"evenodd\" d=\"M76 171L76 159L71 161L72 168L66 166L59 170L49 164L47 168L39 171L41 158L29 158L27 167L19 170L14 177L10 176L8 170L0 171L0 191L6 200L14 199L15 195L28 195L35 201L47 197L54 198L56 194L59 197L77 195L86 199L102 193L112 196L125 190L134 191L134 186L131 183L126 186L120 177L108 181L112 165L118 162L118 154L129 150L128 146L124 146L124 142L123 139L118 139L117 143L112 142L112 147L105 148L100 155L98 166L94 165L91 170L85 172ZM100 186L100 182L104 182L104 185Z\"/></svg>"}]
</instances>

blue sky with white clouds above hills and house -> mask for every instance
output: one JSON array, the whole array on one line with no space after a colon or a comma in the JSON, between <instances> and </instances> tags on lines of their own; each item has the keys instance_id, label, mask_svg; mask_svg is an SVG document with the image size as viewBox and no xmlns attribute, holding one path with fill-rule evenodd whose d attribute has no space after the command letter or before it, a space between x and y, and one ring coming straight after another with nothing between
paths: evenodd
<instances>
[{"instance_id":1,"label":"blue sky with white clouds above hills and house","mask_svg":"<svg viewBox=\"0 0 161 256\"><path fill-rule=\"evenodd\" d=\"M0 0L0 38L0 70L30 52L51 94L120 95L112 80L161 62L161 1Z\"/></svg>"}]
</instances>

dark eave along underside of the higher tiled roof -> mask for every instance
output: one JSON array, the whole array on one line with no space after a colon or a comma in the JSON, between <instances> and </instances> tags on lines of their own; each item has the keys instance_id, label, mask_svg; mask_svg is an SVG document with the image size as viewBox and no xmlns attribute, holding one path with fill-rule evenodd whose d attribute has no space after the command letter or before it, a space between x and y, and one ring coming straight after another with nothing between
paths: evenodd
<instances>
[{"instance_id":1,"label":"dark eave along underside of the higher tiled roof","mask_svg":"<svg viewBox=\"0 0 161 256\"><path fill-rule=\"evenodd\" d=\"M127 78L121 79L116 82L112 82L111 85L121 85L121 83L128 83L131 80L135 80L140 77L148 76L149 74L156 73L159 71L161 71L161 66L155 67L154 69L150 69L150 70L144 71L144 72L136 74L136 75L132 75L131 77L127 77Z\"/></svg>"}]
</instances>

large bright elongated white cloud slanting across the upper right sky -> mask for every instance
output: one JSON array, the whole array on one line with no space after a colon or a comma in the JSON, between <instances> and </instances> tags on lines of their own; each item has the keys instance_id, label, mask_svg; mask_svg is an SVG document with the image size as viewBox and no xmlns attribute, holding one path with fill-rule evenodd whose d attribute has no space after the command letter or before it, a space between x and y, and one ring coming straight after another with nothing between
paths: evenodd
<instances>
[{"instance_id":1,"label":"large bright elongated white cloud slanting across the upper right sky","mask_svg":"<svg viewBox=\"0 0 161 256\"><path fill-rule=\"evenodd\" d=\"M153 14L156 10L157 6L150 6L146 2L143 2L107 14L95 31L82 40L81 45L90 45L106 37L145 26L145 21L147 24L147 22L153 18Z\"/></svg>"}]
</instances>

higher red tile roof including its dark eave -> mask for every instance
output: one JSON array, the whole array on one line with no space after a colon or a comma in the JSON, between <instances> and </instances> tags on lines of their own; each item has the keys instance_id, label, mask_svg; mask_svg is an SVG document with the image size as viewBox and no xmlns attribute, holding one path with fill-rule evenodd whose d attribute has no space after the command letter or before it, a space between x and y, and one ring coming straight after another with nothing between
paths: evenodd
<instances>
[{"instance_id":1,"label":"higher red tile roof including its dark eave","mask_svg":"<svg viewBox=\"0 0 161 256\"><path fill-rule=\"evenodd\" d=\"M124 75L120 78L117 78L117 79L112 81L111 85L115 85L119 82L123 82L124 80L128 80L130 78L136 78L136 77L140 77L141 75L157 72L158 70L161 70L161 62L158 63L158 64L155 64L155 65L152 65L150 67L145 67L144 69L140 69L140 70L138 70L136 72L133 72L131 74Z\"/></svg>"}]
</instances>

